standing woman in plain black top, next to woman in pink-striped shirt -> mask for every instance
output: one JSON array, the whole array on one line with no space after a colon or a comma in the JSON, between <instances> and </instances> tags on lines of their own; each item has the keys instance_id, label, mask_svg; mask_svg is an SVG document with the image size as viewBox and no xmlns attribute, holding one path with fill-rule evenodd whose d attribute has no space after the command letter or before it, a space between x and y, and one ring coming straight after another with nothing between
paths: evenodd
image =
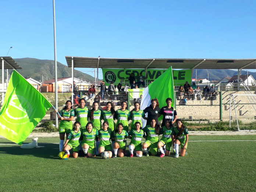
<instances>
[{"instance_id":1,"label":"standing woman in plain black top, next to woman in pink-striped shirt","mask_svg":"<svg viewBox=\"0 0 256 192\"><path fill-rule=\"evenodd\" d=\"M147 113L147 117L143 117L143 119L147 120L146 125L150 125L152 119L156 120L156 124L159 125L158 117L160 115L160 108L157 99L152 99L150 106L146 107L143 111L145 114Z\"/></svg>"}]
</instances>

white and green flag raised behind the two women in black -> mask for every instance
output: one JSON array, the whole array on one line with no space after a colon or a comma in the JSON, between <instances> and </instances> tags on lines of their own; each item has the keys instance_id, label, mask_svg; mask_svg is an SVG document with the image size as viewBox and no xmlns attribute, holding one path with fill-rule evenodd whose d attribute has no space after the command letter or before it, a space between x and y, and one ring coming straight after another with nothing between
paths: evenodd
<instances>
[{"instance_id":1,"label":"white and green flag raised behind the two women in black","mask_svg":"<svg viewBox=\"0 0 256 192\"><path fill-rule=\"evenodd\" d=\"M166 106L166 99L168 97L173 100L171 106L174 107L174 83L173 70L171 67L143 90L141 109L144 110L146 107L150 106L150 101L154 98L158 99L161 109L161 107ZM145 127L146 121L142 123L143 127Z\"/></svg>"}]
</instances>

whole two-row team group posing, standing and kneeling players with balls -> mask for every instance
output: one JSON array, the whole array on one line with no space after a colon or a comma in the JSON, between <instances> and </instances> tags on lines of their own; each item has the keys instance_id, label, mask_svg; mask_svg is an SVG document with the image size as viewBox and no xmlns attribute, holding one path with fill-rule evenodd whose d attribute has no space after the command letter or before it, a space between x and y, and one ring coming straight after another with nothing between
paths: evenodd
<instances>
[{"instance_id":1,"label":"whole two-row team group posing, standing and kneeling players with balls","mask_svg":"<svg viewBox=\"0 0 256 192\"><path fill-rule=\"evenodd\" d=\"M128 111L127 103L123 101L121 109L115 111L111 102L107 102L105 110L101 110L99 103L95 101L92 110L89 110L83 98L79 100L79 106L75 109L72 107L72 101L68 100L60 114L57 113L61 120L59 157L68 158L71 149L74 158L77 158L78 154L84 157L124 157L127 138L131 139L128 145L129 157L133 157L134 152L137 157L142 157L143 152L145 156L156 156L158 152L160 157L169 156L171 153L176 158L184 156L188 146L188 129L184 127L182 120L177 118L177 112L171 107L171 103L172 99L167 98L167 106L160 109L158 100L152 99L150 106L141 110L140 103L134 102L134 109ZM163 120L160 128L158 118L161 115ZM72 120L75 116L77 118L73 125ZM144 128L142 119L146 120ZM159 135L162 135L161 139ZM142 138L146 139L144 143Z\"/></svg>"}]
</instances>

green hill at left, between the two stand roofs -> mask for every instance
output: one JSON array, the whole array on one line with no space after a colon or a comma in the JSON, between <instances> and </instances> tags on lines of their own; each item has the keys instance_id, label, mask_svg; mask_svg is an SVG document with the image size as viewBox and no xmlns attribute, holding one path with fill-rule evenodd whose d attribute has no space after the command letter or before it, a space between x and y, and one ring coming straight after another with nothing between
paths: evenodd
<instances>
[{"instance_id":1,"label":"green hill at left, between the two stand roofs","mask_svg":"<svg viewBox=\"0 0 256 192\"><path fill-rule=\"evenodd\" d=\"M41 60L36 58L15 58L14 59L20 66L21 70L17 70L24 78L33 78L37 81L42 81L42 75L44 81L46 77L49 79L54 79L54 60ZM57 75L58 78L71 77L71 68L67 65L63 65L57 62ZM74 77L82 79L87 82L94 82L94 77L85 74L78 70L74 70Z\"/></svg>"}]
</instances>

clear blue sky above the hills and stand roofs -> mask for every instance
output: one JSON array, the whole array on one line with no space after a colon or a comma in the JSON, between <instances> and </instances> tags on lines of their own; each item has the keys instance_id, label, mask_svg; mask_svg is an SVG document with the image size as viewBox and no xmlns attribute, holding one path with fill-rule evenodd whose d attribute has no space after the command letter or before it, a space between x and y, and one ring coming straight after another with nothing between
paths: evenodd
<instances>
[{"instance_id":1,"label":"clear blue sky above the hills and stand roofs","mask_svg":"<svg viewBox=\"0 0 256 192\"><path fill-rule=\"evenodd\" d=\"M256 58L256 1L56 0L55 6L57 61L65 65L65 56ZM54 60L52 0L1 1L0 17L1 56L13 46L13 58Z\"/></svg>"}]
</instances>

